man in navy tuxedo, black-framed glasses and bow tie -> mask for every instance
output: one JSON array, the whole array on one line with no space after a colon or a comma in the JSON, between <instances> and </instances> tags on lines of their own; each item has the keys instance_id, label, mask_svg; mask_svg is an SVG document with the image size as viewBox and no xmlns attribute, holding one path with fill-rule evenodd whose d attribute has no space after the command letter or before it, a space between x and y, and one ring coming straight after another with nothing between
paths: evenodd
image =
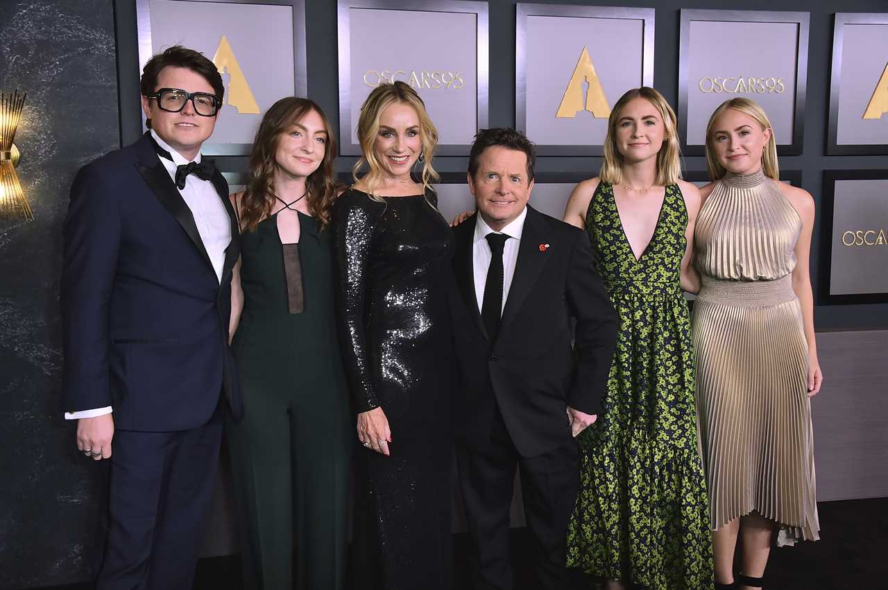
<instances>
[{"instance_id":1,"label":"man in navy tuxedo, black-framed glasses and bow tie","mask_svg":"<svg viewBox=\"0 0 888 590\"><path fill-rule=\"evenodd\" d=\"M188 590L224 408L242 414L228 349L240 238L225 178L200 153L222 104L216 67L171 47L141 92L150 131L71 187L62 397L77 448L110 462L96 587Z\"/></svg>"}]
</instances>

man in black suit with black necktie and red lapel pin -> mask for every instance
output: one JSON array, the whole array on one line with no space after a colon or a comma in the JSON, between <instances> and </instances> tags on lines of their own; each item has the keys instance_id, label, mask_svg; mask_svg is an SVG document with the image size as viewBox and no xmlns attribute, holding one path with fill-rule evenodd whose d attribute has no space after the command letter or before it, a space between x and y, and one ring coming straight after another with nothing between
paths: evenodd
<instances>
[{"instance_id":1,"label":"man in black suit with black necktie and red lapel pin","mask_svg":"<svg viewBox=\"0 0 888 590\"><path fill-rule=\"evenodd\" d=\"M461 296L453 314L465 396L456 459L476 590L512 587L516 468L536 545L535 587L564 587L579 484L574 437L596 419L614 354L616 315L589 239L527 206L534 160L518 131L481 130L468 173L478 212L455 230Z\"/></svg>"}]
</instances>

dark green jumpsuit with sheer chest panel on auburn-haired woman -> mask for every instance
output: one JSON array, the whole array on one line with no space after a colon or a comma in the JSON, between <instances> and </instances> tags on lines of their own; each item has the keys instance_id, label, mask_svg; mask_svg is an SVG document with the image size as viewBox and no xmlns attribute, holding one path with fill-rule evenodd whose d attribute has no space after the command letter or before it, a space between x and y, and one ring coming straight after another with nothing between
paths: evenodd
<instances>
[{"instance_id":1,"label":"dark green jumpsuit with sheer chest panel on auburn-haired woman","mask_svg":"<svg viewBox=\"0 0 888 590\"><path fill-rule=\"evenodd\" d=\"M246 588L345 585L354 419L337 340L331 232L299 214L305 310L291 314L277 216L243 232L234 335L244 418L227 426Z\"/></svg>"}]
</instances>

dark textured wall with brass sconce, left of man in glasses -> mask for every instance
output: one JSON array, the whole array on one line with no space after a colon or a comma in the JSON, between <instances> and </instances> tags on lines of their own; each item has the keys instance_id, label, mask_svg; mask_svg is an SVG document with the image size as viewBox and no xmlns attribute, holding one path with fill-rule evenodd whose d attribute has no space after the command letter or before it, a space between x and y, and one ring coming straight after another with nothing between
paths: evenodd
<instances>
[{"instance_id":1,"label":"dark textured wall with brass sconce, left of man in glasses","mask_svg":"<svg viewBox=\"0 0 888 590\"><path fill-rule=\"evenodd\" d=\"M0 224L0 588L83 579L94 555L99 466L59 405L60 227L75 171L119 145L111 1L0 2L0 90L15 88L36 220Z\"/></svg>"}]
</instances>

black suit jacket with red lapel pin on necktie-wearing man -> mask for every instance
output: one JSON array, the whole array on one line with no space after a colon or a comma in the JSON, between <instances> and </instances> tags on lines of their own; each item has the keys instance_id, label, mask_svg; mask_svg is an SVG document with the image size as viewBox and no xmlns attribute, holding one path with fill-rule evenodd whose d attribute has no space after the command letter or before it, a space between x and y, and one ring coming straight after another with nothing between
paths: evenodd
<instances>
[{"instance_id":1,"label":"black suit jacket with red lapel pin on necktie-wearing man","mask_svg":"<svg viewBox=\"0 0 888 590\"><path fill-rule=\"evenodd\" d=\"M589 239L527 208L499 335L489 342L472 268L475 216L454 231L459 294L451 308L464 395L458 434L483 446L498 405L522 456L551 451L570 440L567 405L599 413L614 355L616 314L592 266Z\"/></svg>"}]
</instances>

